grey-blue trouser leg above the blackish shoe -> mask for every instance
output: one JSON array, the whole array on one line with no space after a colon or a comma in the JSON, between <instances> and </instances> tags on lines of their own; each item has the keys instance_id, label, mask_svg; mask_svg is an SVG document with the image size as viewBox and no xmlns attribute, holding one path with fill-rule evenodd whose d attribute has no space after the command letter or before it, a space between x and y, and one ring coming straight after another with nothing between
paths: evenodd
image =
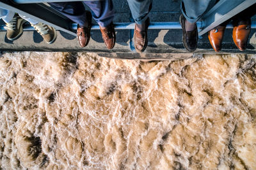
<instances>
[{"instance_id":1,"label":"grey-blue trouser leg above the blackish shoe","mask_svg":"<svg viewBox=\"0 0 256 170\"><path fill-rule=\"evenodd\" d=\"M196 22L214 0L182 0L181 10L188 22Z\"/></svg>"}]
</instances>

